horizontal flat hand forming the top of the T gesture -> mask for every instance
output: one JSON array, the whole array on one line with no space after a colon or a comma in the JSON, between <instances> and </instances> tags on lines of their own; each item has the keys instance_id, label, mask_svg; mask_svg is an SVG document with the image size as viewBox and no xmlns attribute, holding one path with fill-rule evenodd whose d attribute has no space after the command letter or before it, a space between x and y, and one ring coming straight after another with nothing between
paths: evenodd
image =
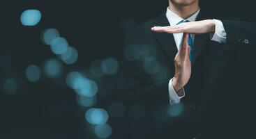
<instances>
[{"instance_id":1,"label":"horizontal flat hand forming the top of the T gesture","mask_svg":"<svg viewBox=\"0 0 256 139\"><path fill-rule=\"evenodd\" d=\"M198 22L186 22L176 26L154 26L151 28L155 32L165 33L192 33L202 34L215 32L216 23L213 19L206 19Z\"/></svg>"}]
</instances>

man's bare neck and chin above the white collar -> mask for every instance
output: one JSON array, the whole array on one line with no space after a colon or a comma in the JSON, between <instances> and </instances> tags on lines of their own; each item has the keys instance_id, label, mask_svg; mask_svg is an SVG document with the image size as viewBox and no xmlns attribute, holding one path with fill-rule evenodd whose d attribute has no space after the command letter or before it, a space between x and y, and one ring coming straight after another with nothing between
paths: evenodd
<instances>
[{"instance_id":1,"label":"man's bare neck and chin above the white collar","mask_svg":"<svg viewBox=\"0 0 256 139\"><path fill-rule=\"evenodd\" d=\"M177 3L172 3L172 1L169 1L169 9L183 19L187 19L188 17L193 15L193 13L197 12L197 10L199 9L199 3L198 1L195 1L188 6L181 6Z\"/></svg>"}]
</instances>

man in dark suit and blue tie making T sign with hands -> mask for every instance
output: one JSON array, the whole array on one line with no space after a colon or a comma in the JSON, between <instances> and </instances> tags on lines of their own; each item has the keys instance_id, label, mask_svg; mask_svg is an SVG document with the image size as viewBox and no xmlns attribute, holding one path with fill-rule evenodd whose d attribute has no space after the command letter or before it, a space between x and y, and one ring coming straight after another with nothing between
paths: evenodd
<instances>
[{"instance_id":1,"label":"man in dark suit and blue tie making T sign with hands","mask_svg":"<svg viewBox=\"0 0 256 139\"><path fill-rule=\"evenodd\" d=\"M169 0L161 15L126 35L121 100L144 113L140 122L121 122L126 138L246 136L240 104L250 92L243 92L239 51L255 42L236 24L213 19L199 0ZM181 115L168 115L177 105Z\"/></svg>"}]
</instances>

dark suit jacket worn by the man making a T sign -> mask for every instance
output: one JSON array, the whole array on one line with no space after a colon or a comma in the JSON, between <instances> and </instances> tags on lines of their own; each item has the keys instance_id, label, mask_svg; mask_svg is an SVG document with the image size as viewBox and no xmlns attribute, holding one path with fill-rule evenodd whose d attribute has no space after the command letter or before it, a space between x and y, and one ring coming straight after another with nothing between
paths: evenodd
<instances>
[{"instance_id":1,"label":"dark suit jacket worn by the man making a T sign","mask_svg":"<svg viewBox=\"0 0 256 139\"><path fill-rule=\"evenodd\" d=\"M212 19L199 13L197 20ZM244 84L241 49L256 44L246 24L222 20L227 44L195 35L190 81L180 104L170 106L168 83L177 53L172 34L153 33L152 26L169 26L165 12L126 35L119 87L126 116L113 138L241 138ZM239 28L237 26L240 26ZM252 27L252 26L251 26ZM255 29L255 26L254 26ZM248 47L246 47L248 46ZM241 88L243 86L243 88ZM243 111L244 112L244 111ZM120 136L119 136L120 135Z\"/></svg>"}]
</instances>

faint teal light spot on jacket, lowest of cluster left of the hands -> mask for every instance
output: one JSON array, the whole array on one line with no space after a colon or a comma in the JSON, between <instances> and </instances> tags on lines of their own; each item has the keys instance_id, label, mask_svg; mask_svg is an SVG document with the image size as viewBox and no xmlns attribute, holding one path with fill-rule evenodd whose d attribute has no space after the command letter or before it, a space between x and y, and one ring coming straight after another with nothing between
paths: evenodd
<instances>
[{"instance_id":1,"label":"faint teal light spot on jacket, lowest of cluster left of the hands","mask_svg":"<svg viewBox=\"0 0 256 139\"><path fill-rule=\"evenodd\" d=\"M149 74L156 74L160 70L160 64L157 60L145 60L143 63L144 70Z\"/></svg>"}]
</instances>

